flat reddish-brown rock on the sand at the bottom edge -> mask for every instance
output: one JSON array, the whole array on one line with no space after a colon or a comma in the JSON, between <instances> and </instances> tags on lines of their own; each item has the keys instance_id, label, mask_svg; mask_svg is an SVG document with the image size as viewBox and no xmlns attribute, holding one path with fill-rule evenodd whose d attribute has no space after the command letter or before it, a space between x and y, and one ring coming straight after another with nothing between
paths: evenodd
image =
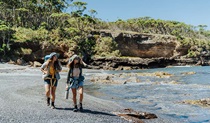
<instances>
[{"instance_id":1,"label":"flat reddish-brown rock on the sand at the bottom edge","mask_svg":"<svg viewBox=\"0 0 210 123\"><path fill-rule=\"evenodd\" d=\"M147 113L147 112L137 112L131 108L124 109L119 112L113 112L113 114L133 123L144 123L142 119L158 118L155 114Z\"/></svg>"}]
</instances>

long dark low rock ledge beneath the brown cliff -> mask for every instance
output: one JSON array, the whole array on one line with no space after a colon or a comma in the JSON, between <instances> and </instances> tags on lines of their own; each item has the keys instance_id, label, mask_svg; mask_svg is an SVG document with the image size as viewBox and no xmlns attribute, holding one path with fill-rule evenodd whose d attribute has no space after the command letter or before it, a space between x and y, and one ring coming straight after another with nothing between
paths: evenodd
<instances>
[{"instance_id":1,"label":"long dark low rock ledge beneath the brown cliff","mask_svg":"<svg viewBox=\"0 0 210 123\"><path fill-rule=\"evenodd\" d=\"M131 70L160 68L167 66L195 65L197 59L174 59L174 58L93 58L91 66L95 69L105 70Z\"/></svg>"}]
</instances>

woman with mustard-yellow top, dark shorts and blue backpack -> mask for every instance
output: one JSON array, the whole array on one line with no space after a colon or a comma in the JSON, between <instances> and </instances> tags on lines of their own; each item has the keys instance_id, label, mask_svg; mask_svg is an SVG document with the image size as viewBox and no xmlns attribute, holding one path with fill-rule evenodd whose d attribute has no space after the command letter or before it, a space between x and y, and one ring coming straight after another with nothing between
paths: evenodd
<instances>
[{"instance_id":1,"label":"woman with mustard-yellow top, dark shorts and blue backpack","mask_svg":"<svg viewBox=\"0 0 210 123\"><path fill-rule=\"evenodd\" d=\"M48 55L48 59L41 66L43 72L42 78L45 83L45 93L47 98L47 106L50 106L50 94L51 94L51 108L55 108L55 91L60 79L59 72L62 70L61 63L58 60L58 54L53 52Z\"/></svg>"}]
</instances>

